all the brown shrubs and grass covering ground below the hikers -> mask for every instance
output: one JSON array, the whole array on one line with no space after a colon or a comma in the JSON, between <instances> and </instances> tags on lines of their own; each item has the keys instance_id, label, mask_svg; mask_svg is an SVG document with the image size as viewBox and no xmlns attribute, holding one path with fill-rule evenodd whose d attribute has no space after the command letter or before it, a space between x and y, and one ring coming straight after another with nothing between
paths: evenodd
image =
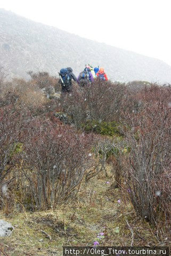
<instances>
[{"instance_id":1,"label":"all the brown shrubs and grass covering ground below the hikers","mask_svg":"<svg viewBox=\"0 0 171 256\"><path fill-rule=\"evenodd\" d=\"M59 90L58 79L30 76L0 83L0 208L15 226L1 240L11 255L91 246L100 232L100 245L170 246L171 87L95 81L47 99L42 88Z\"/></svg>"}]
</instances>

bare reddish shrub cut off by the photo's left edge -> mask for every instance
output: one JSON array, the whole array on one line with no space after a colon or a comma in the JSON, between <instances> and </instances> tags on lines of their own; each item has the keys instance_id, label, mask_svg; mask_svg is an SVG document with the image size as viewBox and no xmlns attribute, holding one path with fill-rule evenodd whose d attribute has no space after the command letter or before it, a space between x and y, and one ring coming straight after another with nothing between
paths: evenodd
<instances>
[{"instance_id":1,"label":"bare reddish shrub cut off by the photo's left edge","mask_svg":"<svg viewBox=\"0 0 171 256\"><path fill-rule=\"evenodd\" d=\"M0 108L0 206L5 211L13 204L14 193L9 191L19 175L15 155L21 147L19 141L26 120L13 104Z\"/></svg>"}]
</instances>

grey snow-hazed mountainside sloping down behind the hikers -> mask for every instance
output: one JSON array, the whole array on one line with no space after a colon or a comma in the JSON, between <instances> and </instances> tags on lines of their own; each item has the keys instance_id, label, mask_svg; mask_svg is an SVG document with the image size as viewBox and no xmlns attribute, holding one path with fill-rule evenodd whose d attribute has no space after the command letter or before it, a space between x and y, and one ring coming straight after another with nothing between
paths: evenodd
<instances>
[{"instance_id":1,"label":"grey snow-hazed mountainside sloping down behind the hikers","mask_svg":"<svg viewBox=\"0 0 171 256\"><path fill-rule=\"evenodd\" d=\"M90 63L104 67L113 81L171 82L171 67L161 60L91 41L3 9L0 31L0 65L9 77L27 78L29 70L58 75L66 66L78 75Z\"/></svg>"}]
</instances>

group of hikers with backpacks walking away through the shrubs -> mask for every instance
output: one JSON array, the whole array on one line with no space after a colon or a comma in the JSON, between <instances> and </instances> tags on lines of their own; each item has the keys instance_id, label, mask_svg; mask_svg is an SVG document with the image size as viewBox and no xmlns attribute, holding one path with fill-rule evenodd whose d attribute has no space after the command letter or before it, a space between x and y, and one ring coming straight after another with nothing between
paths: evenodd
<instances>
[{"instance_id":1,"label":"group of hikers with backpacks walking away through the shrubs","mask_svg":"<svg viewBox=\"0 0 171 256\"><path fill-rule=\"evenodd\" d=\"M98 78L102 81L108 81L107 74L104 72L104 68L99 66L93 67L91 65L85 65L82 72L79 73L78 78L72 73L72 68L62 68L59 73L61 92L72 91L72 79L81 87L91 84L94 79Z\"/></svg>"}]
</instances>

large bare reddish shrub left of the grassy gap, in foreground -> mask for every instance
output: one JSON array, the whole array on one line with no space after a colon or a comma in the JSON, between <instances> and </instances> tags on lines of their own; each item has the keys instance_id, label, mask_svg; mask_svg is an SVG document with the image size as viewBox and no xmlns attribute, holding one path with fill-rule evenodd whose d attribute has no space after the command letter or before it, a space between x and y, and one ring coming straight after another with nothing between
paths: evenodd
<instances>
[{"instance_id":1,"label":"large bare reddish shrub left of the grassy gap, in foreground","mask_svg":"<svg viewBox=\"0 0 171 256\"><path fill-rule=\"evenodd\" d=\"M91 134L78 134L57 121L36 119L27 126L22 143L23 201L31 198L33 209L47 209L77 193L93 161L88 155Z\"/></svg>"}]
</instances>

